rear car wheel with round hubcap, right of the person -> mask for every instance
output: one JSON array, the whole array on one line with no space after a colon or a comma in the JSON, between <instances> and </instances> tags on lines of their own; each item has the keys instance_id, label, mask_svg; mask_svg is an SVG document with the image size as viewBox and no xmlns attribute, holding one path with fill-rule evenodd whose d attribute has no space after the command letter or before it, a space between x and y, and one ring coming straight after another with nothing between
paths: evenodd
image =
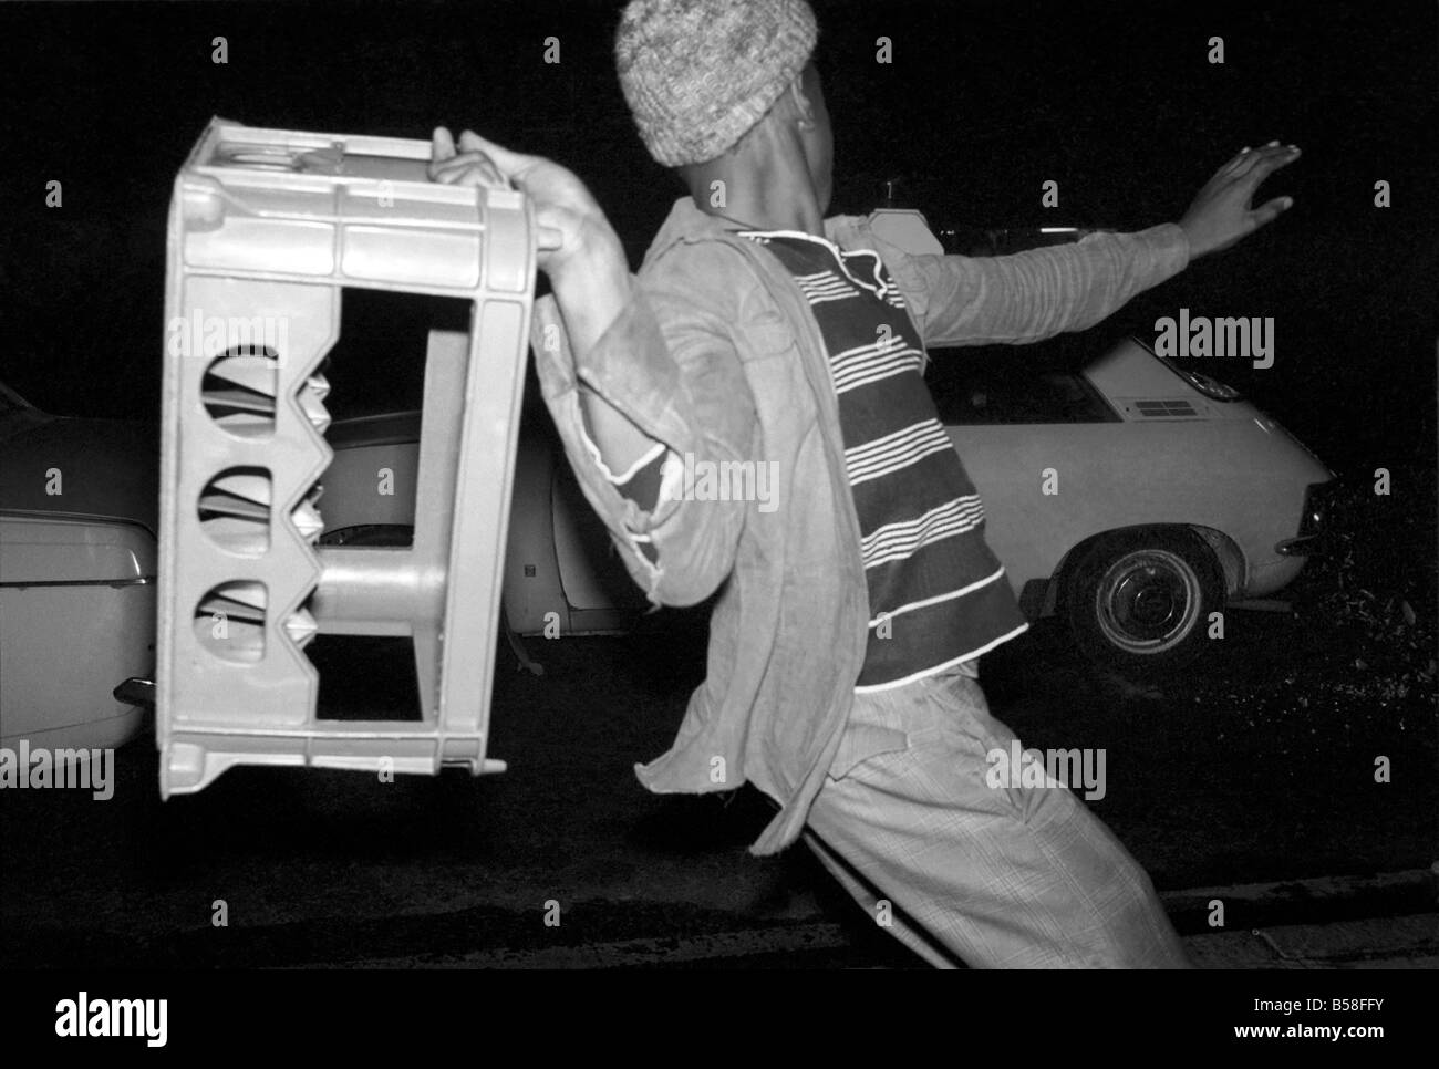
<instances>
[{"instance_id":1,"label":"rear car wheel with round hubcap, right of the person","mask_svg":"<svg viewBox=\"0 0 1439 1069\"><path fill-rule=\"evenodd\" d=\"M1187 528L1117 531L1066 570L1063 617L1091 660L1153 678L1190 665L1225 607L1225 573Z\"/></svg>"}]
</instances>

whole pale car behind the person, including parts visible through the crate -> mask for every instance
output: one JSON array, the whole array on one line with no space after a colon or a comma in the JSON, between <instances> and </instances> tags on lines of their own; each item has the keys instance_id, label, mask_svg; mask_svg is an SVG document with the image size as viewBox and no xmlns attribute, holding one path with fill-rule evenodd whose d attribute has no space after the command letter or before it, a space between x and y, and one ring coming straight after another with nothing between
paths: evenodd
<instances>
[{"instance_id":1,"label":"whole pale car behind the person, including parts visible through the crate","mask_svg":"<svg viewBox=\"0 0 1439 1069\"><path fill-rule=\"evenodd\" d=\"M1026 613L1059 613L1125 670L1184 663L1219 633L1212 613L1281 590L1320 534L1324 463L1138 340L937 348L927 377ZM419 413L334 424L325 542L409 537L417 430ZM504 601L515 632L551 636L623 630L643 607L538 429L521 436Z\"/></svg>"}]
</instances>

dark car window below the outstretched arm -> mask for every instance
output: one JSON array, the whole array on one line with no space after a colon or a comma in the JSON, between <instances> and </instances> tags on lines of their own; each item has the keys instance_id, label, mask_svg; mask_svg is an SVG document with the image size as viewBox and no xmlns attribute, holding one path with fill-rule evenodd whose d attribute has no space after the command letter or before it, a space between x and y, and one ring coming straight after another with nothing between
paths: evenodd
<instances>
[{"instance_id":1,"label":"dark car window below the outstretched arm","mask_svg":"<svg viewBox=\"0 0 1439 1069\"><path fill-rule=\"evenodd\" d=\"M925 380L945 424L1120 420L1081 374L1085 363L1072 345L1048 342L932 348Z\"/></svg>"}]
</instances>

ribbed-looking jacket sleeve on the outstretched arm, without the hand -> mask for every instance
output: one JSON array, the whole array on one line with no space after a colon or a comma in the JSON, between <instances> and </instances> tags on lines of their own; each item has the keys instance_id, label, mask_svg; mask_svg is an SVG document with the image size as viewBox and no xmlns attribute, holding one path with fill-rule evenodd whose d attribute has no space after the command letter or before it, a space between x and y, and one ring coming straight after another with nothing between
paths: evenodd
<instances>
[{"instance_id":1,"label":"ribbed-looking jacket sleeve on the outstretched arm, without the hand","mask_svg":"<svg viewBox=\"0 0 1439 1069\"><path fill-rule=\"evenodd\" d=\"M1010 256L909 255L873 239L925 345L1042 341L1082 331L1189 265L1176 223Z\"/></svg>"}]
</instances>

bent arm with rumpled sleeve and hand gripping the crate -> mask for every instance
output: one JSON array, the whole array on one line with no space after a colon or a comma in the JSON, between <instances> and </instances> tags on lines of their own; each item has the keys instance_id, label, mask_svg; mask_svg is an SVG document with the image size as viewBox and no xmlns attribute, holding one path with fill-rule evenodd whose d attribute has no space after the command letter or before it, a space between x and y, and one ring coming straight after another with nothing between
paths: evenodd
<instances>
[{"instance_id":1,"label":"bent arm with rumpled sleeve and hand gripping the crate","mask_svg":"<svg viewBox=\"0 0 1439 1069\"><path fill-rule=\"evenodd\" d=\"M646 288L573 173L469 131L460 148L436 131L435 181L519 188L534 201L554 291L534 306L535 367L586 499L650 601L704 600L734 567L748 505L666 489L678 458L728 465L753 453L754 401L728 327L740 285L712 285L734 266L692 250Z\"/></svg>"}]
</instances>

